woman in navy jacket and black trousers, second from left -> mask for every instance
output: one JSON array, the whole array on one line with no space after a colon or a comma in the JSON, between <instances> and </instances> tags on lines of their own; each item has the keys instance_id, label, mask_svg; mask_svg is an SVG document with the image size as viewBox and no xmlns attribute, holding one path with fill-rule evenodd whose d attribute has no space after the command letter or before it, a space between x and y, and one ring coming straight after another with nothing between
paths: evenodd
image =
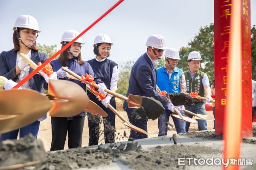
<instances>
[{"instance_id":1,"label":"woman in navy jacket and black trousers, second from left","mask_svg":"<svg viewBox=\"0 0 256 170\"><path fill-rule=\"evenodd\" d=\"M67 30L64 32L61 38L61 47L64 47L68 42L72 41L80 33L75 30ZM50 62L53 71L58 71L62 66L67 67L71 71L75 72L79 76L90 74L94 77L96 84L100 86L99 92L105 93L105 84L96 77L93 73L93 69L90 64L81 59L81 45L84 44L82 37L76 40L70 47L60 54L58 59ZM58 75L57 75L58 76ZM86 91L86 84L81 81L70 79L65 71L59 72L59 78L75 82L80 85L84 91ZM68 147L75 148L81 147L82 133L84 127L84 112L79 113L73 117L51 117L52 122L52 144L51 151L53 150L63 150L66 141L66 136L68 133Z\"/></svg>"}]
</instances>

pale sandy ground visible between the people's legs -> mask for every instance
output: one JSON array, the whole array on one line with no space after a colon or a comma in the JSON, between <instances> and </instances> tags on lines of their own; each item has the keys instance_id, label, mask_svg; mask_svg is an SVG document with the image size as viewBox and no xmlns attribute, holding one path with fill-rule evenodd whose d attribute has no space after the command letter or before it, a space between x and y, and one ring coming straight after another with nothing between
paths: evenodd
<instances>
[{"instance_id":1,"label":"pale sandy ground visible between the people's legs","mask_svg":"<svg viewBox=\"0 0 256 170\"><path fill-rule=\"evenodd\" d=\"M125 117L125 119L128 120L127 114L125 111L121 109L121 107L117 106L117 110L119 113L122 114L122 116ZM210 116L212 115L212 111L207 111L207 114ZM169 121L172 125L174 125L172 119ZM171 130L168 131L169 134L176 133L175 127L170 127ZM213 121L207 121L207 128L212 129L213 128ZM103 129L103 126L101 126L101 130ZM190 125L189 131L197 131L198 127L195 124ZM128 138L124 137L124 131L126 132L127 136L130 134L130 129L126 127L125 125L122 124L122 121L116 116L116 137L115 137L115 142L121 142L121 141L127 141ZM148 137L156 137L158 134L158 127L157 127L157 119L156 120L148 120ZM68 137L67 137L68 138ZM38 139L41 139L42 142L44 143L44 149L46 151L50 150L51 146L51 140L52 140L52 133L51 133L51 118L48 116L47 119L41 122L40 124L40 129L38 133ZM89 130L88 130L88 123L87 123L87 116L85 118L84 122L84 130L83 130L83 139L82 139L82 147L88 146L88 141L89 141ZM103 140L103 134L100 136L99 139L99 144L104 144ZM68 149L67 146L67 139L65 143L64 149Z\"/></svg>"}]
</instances>

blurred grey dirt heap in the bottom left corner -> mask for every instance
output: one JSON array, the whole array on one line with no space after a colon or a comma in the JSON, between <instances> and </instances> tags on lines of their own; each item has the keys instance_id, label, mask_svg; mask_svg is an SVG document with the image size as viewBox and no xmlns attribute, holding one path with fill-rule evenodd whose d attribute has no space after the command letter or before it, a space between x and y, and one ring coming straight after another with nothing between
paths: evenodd
<instances>
[{"instance_id":1,"label":"blurred grey dirt heap in the bottom left corner","mask_svg":"<svg viewBox=\"0 0 256 170\"><path fill-rule=\"evenodd\" d=\"M20 140L5 140L0 143L0 167L44 161L46 158L42 141L35 139L32 134Z\"/></svg>"}]
</instances>

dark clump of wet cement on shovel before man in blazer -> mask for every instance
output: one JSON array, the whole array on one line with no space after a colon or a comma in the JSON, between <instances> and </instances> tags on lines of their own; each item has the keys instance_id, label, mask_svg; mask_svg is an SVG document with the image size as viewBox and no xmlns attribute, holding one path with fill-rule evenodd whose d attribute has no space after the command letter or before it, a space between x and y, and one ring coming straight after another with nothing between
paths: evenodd
<instances>
[{"instance_id":1,"label":"dark clump of wet cement on shovel before man in blazer","mask_svg":"<svg viewBox=\"0 0 256 170\"><path fill-rule=\"evenodd\" d=\"M142 107L135 109L131 115L135 119L157 119L163 112L164 108L161 102L153 97L143 97Z\"/></svg>"}]
</instances>

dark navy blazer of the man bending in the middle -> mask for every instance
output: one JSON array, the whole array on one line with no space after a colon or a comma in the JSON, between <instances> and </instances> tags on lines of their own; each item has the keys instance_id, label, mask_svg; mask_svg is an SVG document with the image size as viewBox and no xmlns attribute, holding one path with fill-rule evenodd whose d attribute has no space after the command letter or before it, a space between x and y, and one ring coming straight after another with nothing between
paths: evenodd
<instances>
[{"instance_id":1,"label":"dark navy blazer of the man bending in the middle","mask_svg":"<svg viewBox=\"0 0 256 170\"><path fill-rule=\"evenodd\" d=\"M163 106L166 106L167 100L161 96L156 89L157 72L151 60L148 58L148 54L145 53L140 56L131 69L131 76L129 80L129 88L126 96L129 94L135 94L146 97L153 97L160 101ZM123 109L127 110L127 102L124 102Z\"/></svg>"}]
</instances>

